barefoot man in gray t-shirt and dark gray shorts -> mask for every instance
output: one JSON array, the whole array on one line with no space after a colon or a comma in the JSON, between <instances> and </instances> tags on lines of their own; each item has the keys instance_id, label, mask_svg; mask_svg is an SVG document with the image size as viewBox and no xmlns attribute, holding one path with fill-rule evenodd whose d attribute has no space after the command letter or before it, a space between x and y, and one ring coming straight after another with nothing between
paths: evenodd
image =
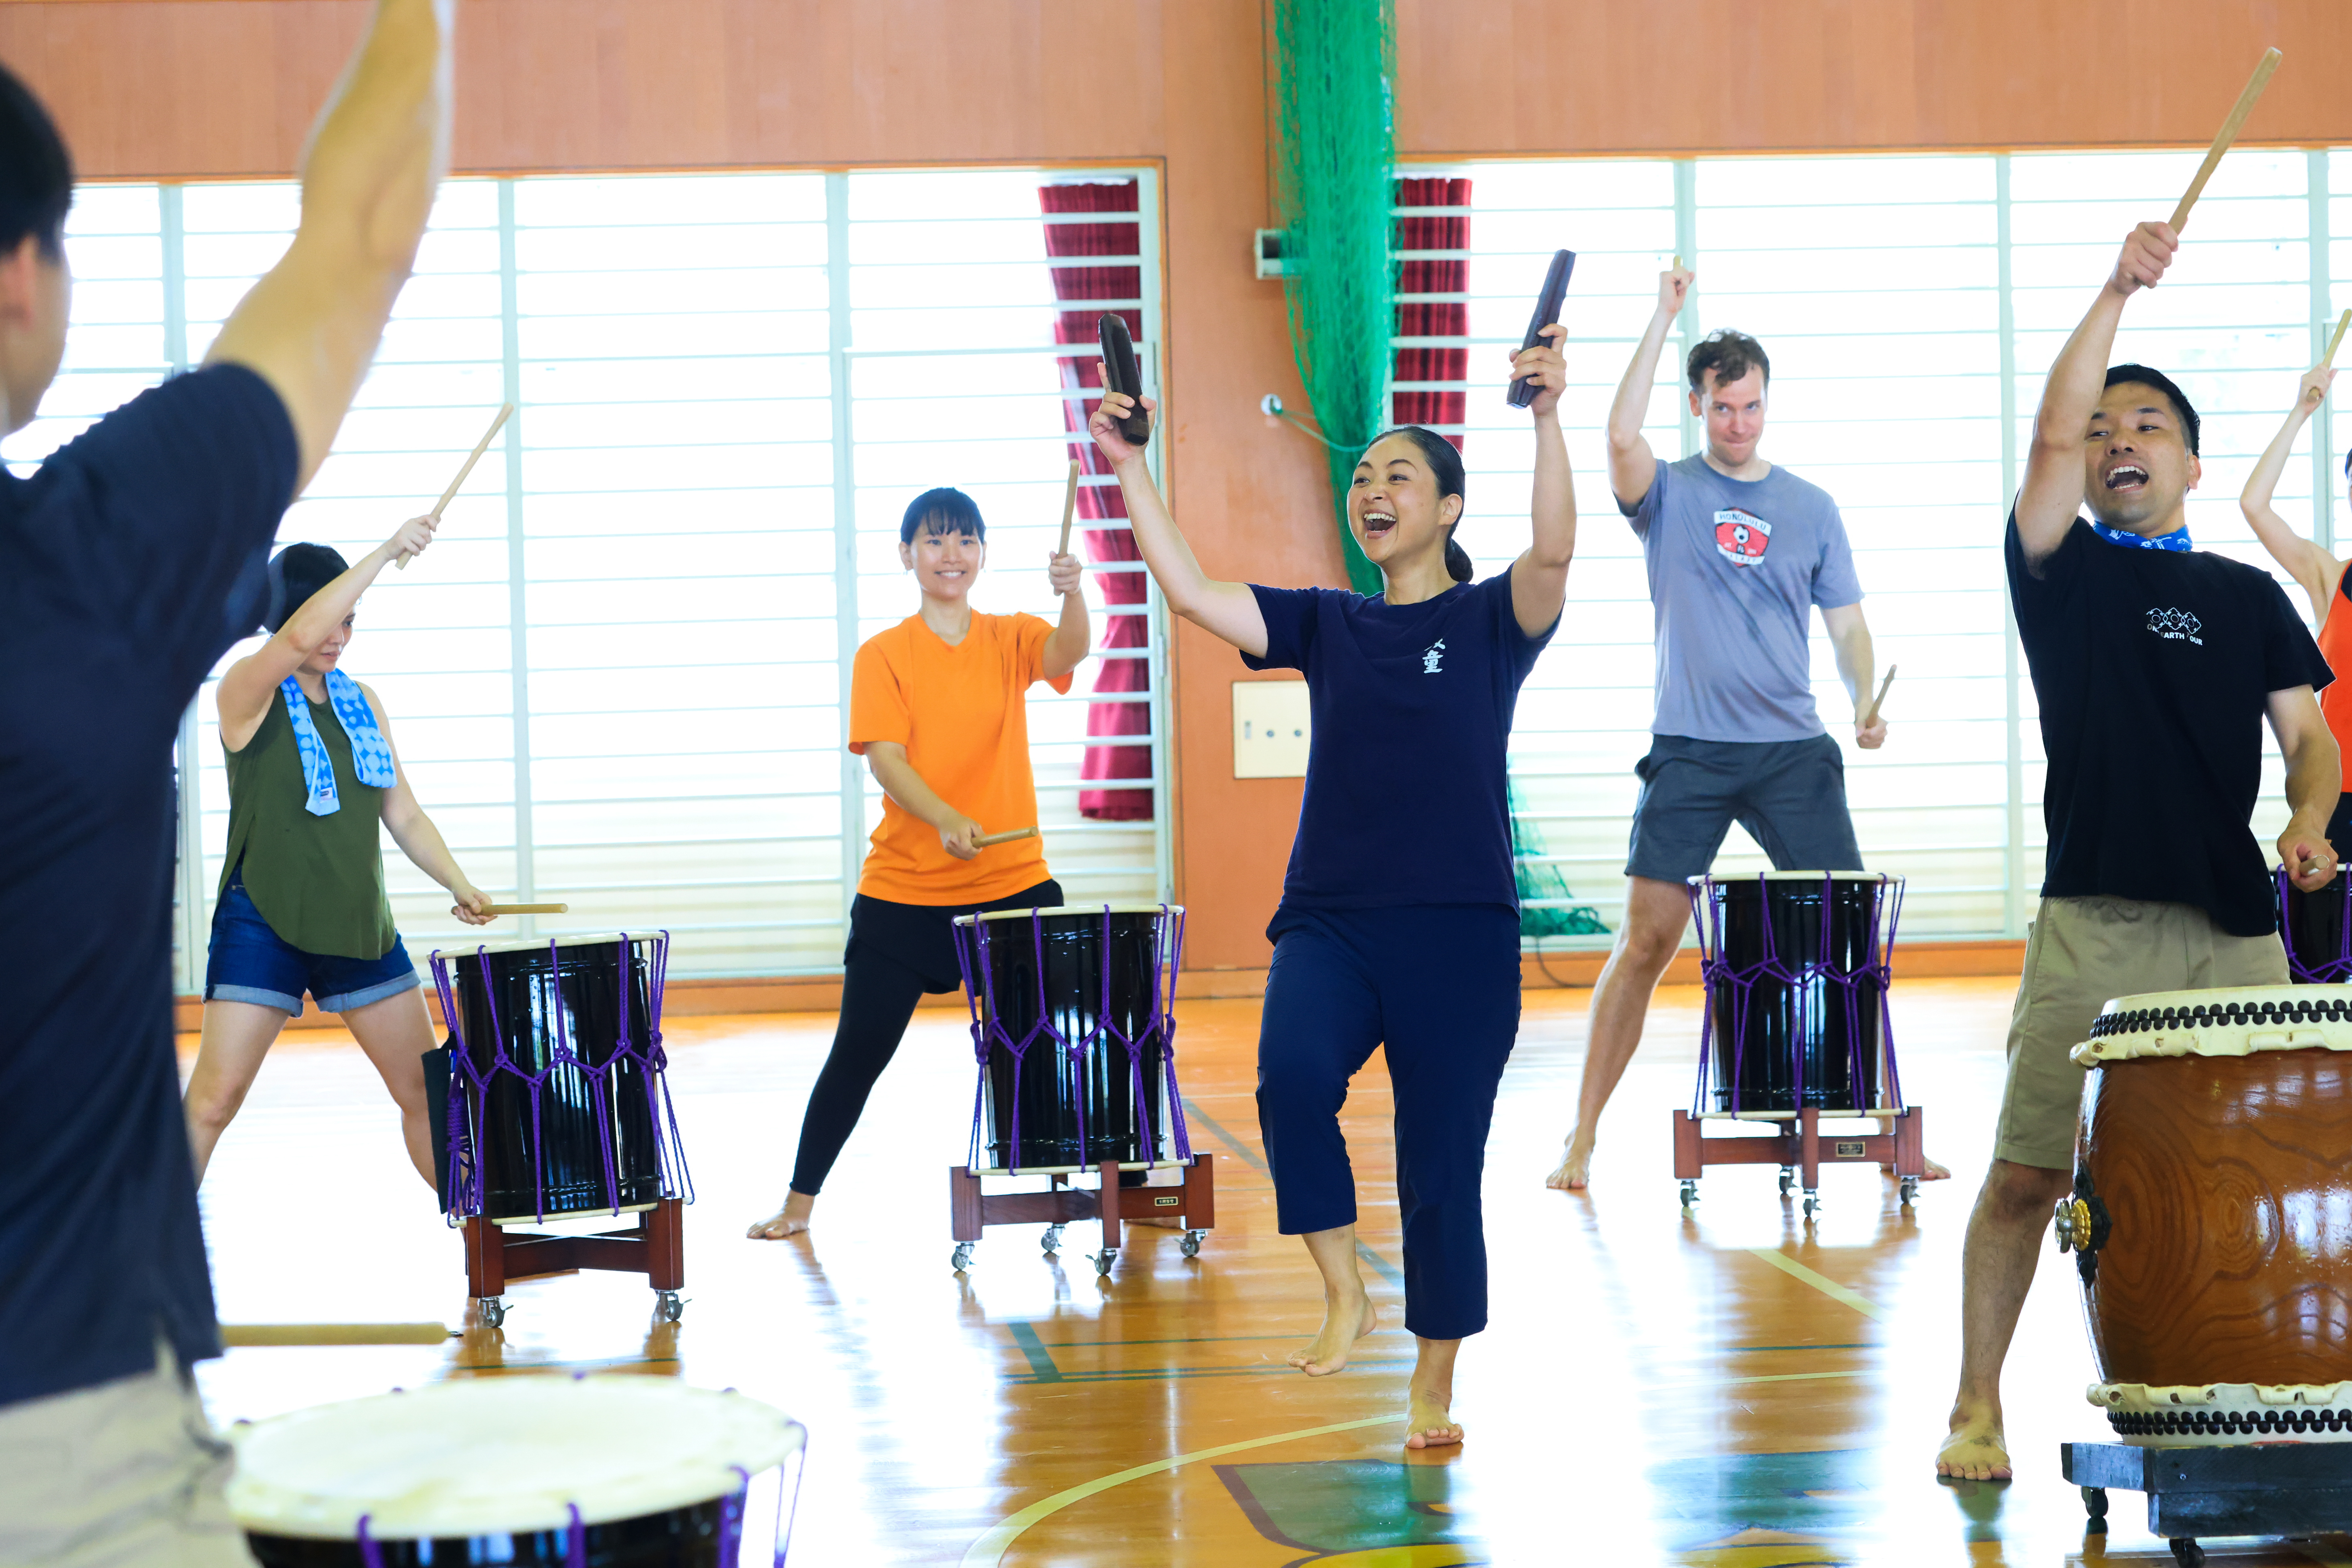
<instances>
[{"instance_id":1,"label":"barefoot man in gray t-shirt and dark gray shorts","mask_svg":"<svg viewBox=\"0 0 2352 1568\"><path fill-rule=\"evenodd\" d=\"M1658 628L1658 710L1625 858L1625 919L1592 992L1585 1081L1552 1187L1583 1187L1602 1107L1625 1074L1658 976L1691 919L1686 877L1715 863L1731 823L1780 870L1860 870L1846 769L1813 710L1811 611L1853 693L1853 741L1875 748L1870 628L1837 503L1757 456L1771 364L1738 331L1691 350L1691 414L1708 449L1661 463L1642 440L1665 334L1693 275L1658 275L1658 310L1609 409L1609 487L1649 562ZM1940 1168L1931 1168L1940 1173Z\"/></svg>"}]
</instances>

